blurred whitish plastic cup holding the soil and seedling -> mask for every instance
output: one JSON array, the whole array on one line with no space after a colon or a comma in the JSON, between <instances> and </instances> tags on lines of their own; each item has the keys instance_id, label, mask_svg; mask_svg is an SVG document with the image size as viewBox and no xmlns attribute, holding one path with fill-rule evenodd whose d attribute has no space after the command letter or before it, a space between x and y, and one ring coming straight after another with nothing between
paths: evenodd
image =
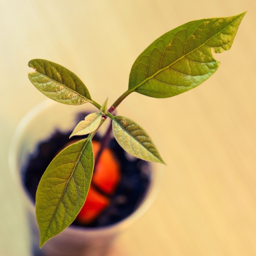
<instances>
[{"instance_id":1,"label":"blurred whitish plastic cup holding the soil and seedling","mask_svg":"<svg viewBox=\"0 0 256 256\"><path fill-rule=\"evenodd\" d=\"M14 181L19 186L24 205L31 224L31 247L36 256L103 256L108 252L114 238L127 229L153 203L161 184L161 164L153 164L151 182L141 204L135 212L124 220L100 228L70 226L61 234L45 243L39 249L39 229L36 222L35 206L25 186L22 184L23 167L29 154L36 150L38 142L47 139L56 128L62 131L71 130L76 125L76 114L92 111L90 103L70 106L52 100L46 100L34 107L18 124L13 135L9 154L9 165ZM95 108L93 111L97 112ZM136 113L138 115L138 113ZM157 167L157 170L156 170Z\"/></svg>"}]
</instances>

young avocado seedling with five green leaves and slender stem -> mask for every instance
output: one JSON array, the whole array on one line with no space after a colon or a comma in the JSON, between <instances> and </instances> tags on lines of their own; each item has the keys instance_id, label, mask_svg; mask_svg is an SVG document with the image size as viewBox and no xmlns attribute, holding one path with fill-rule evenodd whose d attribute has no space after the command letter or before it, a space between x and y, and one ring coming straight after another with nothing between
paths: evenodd
<instances>
[{"instance_id":1,"label":"young avocado seedling with five green leaves and slender stem","mask_svg":"<svg viewBox=\"0 0 256 256\"><path fill-rule=\"evenodd\" d=\"M64 104L91 103L99 112L79 122L73 135L88 135L64 148L49 164L36 192L40 247L68 227L83 207L94 170L92 138L106 119L119 145L132 156L164 163L149 135L139 124L113 111L132 92L167 98L207 80L220 63L215 53L229 50L244 13L226 18L188 22L160 36L132 65L128 89L107 108L92 99L83 82L65 67L43 59L29 61L30 81L47 97Z\"/></svg>"}]
</instances>

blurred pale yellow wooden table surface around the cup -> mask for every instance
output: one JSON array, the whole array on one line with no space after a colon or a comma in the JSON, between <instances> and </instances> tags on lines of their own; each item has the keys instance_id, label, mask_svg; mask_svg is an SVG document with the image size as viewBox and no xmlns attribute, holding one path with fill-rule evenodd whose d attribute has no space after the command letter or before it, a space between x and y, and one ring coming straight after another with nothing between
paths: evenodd
<instances>
[{"instance_id":1,"label":"blurred pale yellow wooden table surface around the cup","mask_svg":"<svg viewBox=\"0 0 256 256\"><path fill-rule=\"evenodd\" d=\"M0 256L29 255L8 168L16 125L45 99L27 78L28 61L60 63L97 102L112 102L157 37L190 20L243 11L231 50L215 55L221 65L203 85L169 99L133 93L120 105L120 113L130 104L145 113L143 126L167 166L155 203L110 255L256 255L256 1L10 0L0 3Z\"/></svg>"}]
</instances>

